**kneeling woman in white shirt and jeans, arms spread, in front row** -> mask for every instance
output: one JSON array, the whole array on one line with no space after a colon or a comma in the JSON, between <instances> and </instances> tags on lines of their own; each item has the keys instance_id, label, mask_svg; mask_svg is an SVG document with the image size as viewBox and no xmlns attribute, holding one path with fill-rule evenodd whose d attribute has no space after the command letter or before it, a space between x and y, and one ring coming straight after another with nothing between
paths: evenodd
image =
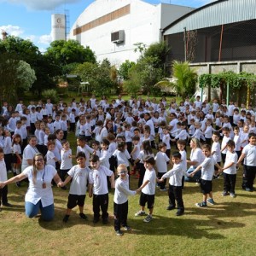
<instances>
[{"instance_id":1,"label":"kneeling woman in white shirt and jeans, arms spread, in front row","mask_svg":"<svg viewBox=\"0 0 256 256\"><path fill-rule=\"evenodd\" d=\"M39 210L41 218L49 221L54 218L54 198L51 188L52 179L55 183L60 183L61 178L53 166L44 164L43 154L35 154L33 157L33 165L15 177L11 177L6 182L0 183L0 188L3 188L9 183L16 183L24 178L28 178L29 187L25 196L25 210L28 218L35 217Z\"/></svg>"}]
</instances>

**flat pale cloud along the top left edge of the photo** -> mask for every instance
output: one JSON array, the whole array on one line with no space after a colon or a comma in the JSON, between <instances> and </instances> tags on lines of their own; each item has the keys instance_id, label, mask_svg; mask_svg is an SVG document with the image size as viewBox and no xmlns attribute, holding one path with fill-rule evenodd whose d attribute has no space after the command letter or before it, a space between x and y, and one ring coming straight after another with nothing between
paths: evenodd
<instances>
[{"instance_id":1,"label":"flat pale cloud along the top left edge of the photo","mask_svg":"<svg viewBox=\"0 0 256 256\"><path fill-rule=\"evenodd\" d=\"M78 3L81 0L5 0L8 3L22 4L27 9L51 10L65 3ZM3 0L2 0L3 2Z\"/></svg>"}]
</instances>

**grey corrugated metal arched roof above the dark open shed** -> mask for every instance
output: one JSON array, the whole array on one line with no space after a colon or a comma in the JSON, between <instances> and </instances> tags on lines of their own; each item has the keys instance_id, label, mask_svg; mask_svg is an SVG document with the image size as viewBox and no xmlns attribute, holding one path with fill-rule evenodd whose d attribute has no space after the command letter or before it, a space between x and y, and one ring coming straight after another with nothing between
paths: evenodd
<instances>
[{"instance_id":1,"label":"grey corrugated metal arched roof above the dark open shed","mask_svg":"<svg viewBox=\"0 0 256 256\"><path fill-rule=\"evenodd\" d=\"M164 29L164 35L256 19L256 0L218 0L195 9Z\"/></svg>"}]
</instances>

